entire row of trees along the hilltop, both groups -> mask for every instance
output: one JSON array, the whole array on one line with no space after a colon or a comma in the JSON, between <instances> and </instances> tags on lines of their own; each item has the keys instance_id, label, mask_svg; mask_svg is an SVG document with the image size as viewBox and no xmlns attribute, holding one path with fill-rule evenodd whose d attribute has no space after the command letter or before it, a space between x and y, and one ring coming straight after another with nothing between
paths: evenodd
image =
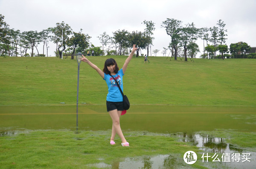
<instances>
[{"instance_id":1,"label":"entire row of trees along the hilltop, both groups","mask_svg":"<svg viewBox=\"0 0 256 169\"><path fill-rule=\"evenodd\" d=\"M56 44L55 54L62 58L62 54L71 55L74 59L76 52L87 53L94 51L95 55L128 55L132 44L137 44L136 56L140 54L140 49L146 49L147 55L151 52L153 45L153 32L155 23L144 20L144 32L128 32L125 29L113 32L113 37L103 32L99 38L102 47L95 47L90 43L90 36L79 32L74 32L73 29L64 21L56 23L53 28L44 29L41 32L28 31L20 32L20 30L10 29L9 25L4 21L4 16L0 14L0 55L8 56L29 56L28 49L31 49L31 57L33 56L48 56L49 42ZM180 20L167 18L162 22L161 28L164 28L166 34L171 37L171 42L168 48L163 47L163 55L166 55L168 49L172 53L172 57L177 60L177 57L195 57L200 52L199 46L196 43L198 39L204 42L204 54L202 58L228 58L227 53L238 57L251 50L251 47L244 42L231 43L228 48L226 44L227 30L222 20L218 20L217 26L211 28L196 28L194 23L182 25ZM39 54L38 46L43 45L43 54ZM46 54L45 54L46 49ZM34 51L37 54L34 54ZM217 51L220 53L217 56ZM157 55L160 50L155 49L153 53ZM170 54L169 53L169 54ZM169 55L168 55L169 56ZM230 57L230 55L229 55Z\"/></svg>"}]
</instances>

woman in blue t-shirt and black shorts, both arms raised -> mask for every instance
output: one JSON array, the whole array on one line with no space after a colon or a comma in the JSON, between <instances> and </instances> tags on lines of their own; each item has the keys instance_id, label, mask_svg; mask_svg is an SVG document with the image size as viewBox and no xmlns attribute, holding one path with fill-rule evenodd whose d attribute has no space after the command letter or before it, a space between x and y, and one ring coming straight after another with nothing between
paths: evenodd
<instances>
[{"instance_id":1,"label":"woman in blue t-shirt and black shorts, both arms raised","mask_svg":"<svg viewBox=\"0 0 256 169\"><path fill-rule=\"evenodd\" d=\"M96 65L91 63L84 55L81 57L81 60L88 63L93 69L95 69L99 75L103 78L103 80L106 81L108 85L108 95L107 95L107 112L109 112L109 115L112 119L112 133L111 133L111 139L110 144L114 145L116 144L114 142L114 138L116 136L116 133L119 135L119 137L122 140L122 146L129 146L129 143L125 140L125 137L122 133L121 127L120 127L120 116L125 114L122 113L124 110L123 107L123 97L119 90L119 87L116 85L116 81L119 84L120 88L123 90L123 75L125 74L125 71L127 69L128 63L130 62L131 58L133 57L135 51L137 50L136 46L133 45L133 49L129 57L125 60L125 63L122 67L122 69L119 70L119 67L117 66L116 60L113 58L109 58L105 61L104 69L103 71L99 69ZM111 77L110 74L113 76ZM114 79L116 80L114 80Z\"/></svg>"}]
</instances>

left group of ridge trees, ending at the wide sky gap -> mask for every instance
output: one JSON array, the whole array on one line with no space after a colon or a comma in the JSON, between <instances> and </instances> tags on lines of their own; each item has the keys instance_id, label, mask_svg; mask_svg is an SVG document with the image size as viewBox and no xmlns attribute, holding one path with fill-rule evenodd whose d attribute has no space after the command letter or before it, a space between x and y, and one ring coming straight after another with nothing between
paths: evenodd
<instances>
[{"instance_id":1,"label":"left group of ridge trees, ending at the wide sky gap","mask_svg":"<svg viewBox=\"0 0 256 169\"><path fill-rule=\"evenodd\" d=\"M62 58L62 54L70 54L74 59L76 52L87 53L94 51L95 55L125 55L129 53L129 47L137 44L137 56L140 49L149 48L152 44L153 37L150 37L154 30L152 21L143 21L146 25L145 32L128 32L126 30L117 30L110 37L106 32L98 36L101 47L95 47L90 43L90 36L79 32L73 32L73 29L64 21L56 23L53 28L44 29L41 32L10 29L9 25L4 22L4 16L0 14L0 55L1 56L48 56L49 42L56 44L55 54ZM38 46L43 45L43 54L39 54ZM104 47L107 48L104 50ZM27 53L31 49L31 55ZM46 54L45 54L46 49ZM114 49L114 50L111 50ZM34 51L37 54L34 54Z\"/></svg>"}]
</instances>

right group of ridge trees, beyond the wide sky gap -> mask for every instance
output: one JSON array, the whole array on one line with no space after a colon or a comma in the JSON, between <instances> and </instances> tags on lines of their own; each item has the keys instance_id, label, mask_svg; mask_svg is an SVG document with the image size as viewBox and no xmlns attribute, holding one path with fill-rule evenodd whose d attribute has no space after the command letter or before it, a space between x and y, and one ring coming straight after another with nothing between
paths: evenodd
<instances>
[{"instance_id":1,"label":"right group of ridge trees, beyond the wide sky gap","mask_svg":"<svg viewBox=\"0 0 256 169\"><path fill-rule=\"evenodd\" d=\"M251 50L251 47L245 42L231 43L228 48L226 24L222 20L218 20L217 26L210 28L196 28L194 23L182 26L181 23L180 20L167 18L161 25L172 39L169 49L175 60L177 60L178 54L185 60L187 60L188 54L190 57L194 57L199 52L199 47L195 43L198 38L204 42L204 54L201 55L201 58L239 58L238 54L244 58L245 53ZM217 55L217 51L220 53L219 55ZM228 52L231 55L226 54Z\"/></svg>"}]
</instances>

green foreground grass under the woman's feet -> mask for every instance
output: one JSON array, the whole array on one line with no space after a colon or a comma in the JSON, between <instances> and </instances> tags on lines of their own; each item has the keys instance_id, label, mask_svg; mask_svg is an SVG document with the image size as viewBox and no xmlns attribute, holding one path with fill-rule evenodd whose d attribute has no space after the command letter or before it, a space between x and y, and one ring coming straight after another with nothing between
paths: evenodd
<instances>
[{"instance_id":1,"label":"green foreground grass under the woman's feet","mask_svg":"<svg viewBox=\"0 0 256 169\"><path fill-rule=\"evenodd\" d=\"M126 157L179 154L195 146L177 137L148 132L128 133L131 147L109 144L111 131L71 132L68 130L23 131L0 137L0 166L3 168L89 168L87 164L112 164ZM136 144L135 144L136 143ZM180 158L180 157L179 157Z\"/></svg>"}]
</instances>

